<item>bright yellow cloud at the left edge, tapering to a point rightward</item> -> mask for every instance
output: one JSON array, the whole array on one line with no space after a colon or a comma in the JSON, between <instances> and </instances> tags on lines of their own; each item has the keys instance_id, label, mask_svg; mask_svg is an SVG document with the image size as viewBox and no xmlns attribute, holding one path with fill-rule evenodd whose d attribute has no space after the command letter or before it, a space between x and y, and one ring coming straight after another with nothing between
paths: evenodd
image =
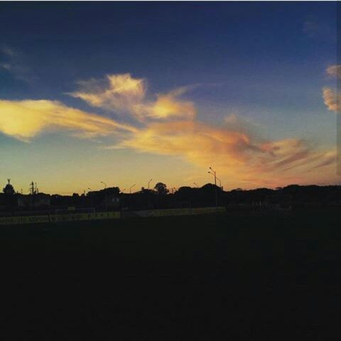
<instances>
[{"instance_id":1,"label":"bright yellow cloud at the left edge, tapering to a point rightward","mask_svg":"<svg viewBox=\"0 0 341 341\"><path fill-rule=\"evenodd\" d=\"M135 131L96 114L65 106L58 101L0 100L0 131L22 141L29 141L46 129L73 131L80 137L106 136L117 129Z\"/></svg>"}]
</instances>

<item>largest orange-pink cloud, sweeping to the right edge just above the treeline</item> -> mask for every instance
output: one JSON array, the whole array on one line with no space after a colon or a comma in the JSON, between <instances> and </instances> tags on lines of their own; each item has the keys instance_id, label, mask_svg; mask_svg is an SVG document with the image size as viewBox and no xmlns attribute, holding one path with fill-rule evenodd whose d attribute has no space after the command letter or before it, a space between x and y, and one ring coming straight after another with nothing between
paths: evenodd
<instances>
[{"instance_id":1,"label":"largest orange-pink cloud, sweeping to the right edge just above the treeline","mask_svg":"<svg viewBox=\"0 0 341 341\"><path fill-rule=\"evenodd\" d=\"M215 166L229 181L242 181L249 186L302 183L309 179L316 182L316 178L323 178L320 168L324 168L323 175L336 176L332 171L335 152L318 151L301 139L262 141L229 124L153 122L121 141L119 147L180 156L202 168Z\"/></svg>"}]
</instances>

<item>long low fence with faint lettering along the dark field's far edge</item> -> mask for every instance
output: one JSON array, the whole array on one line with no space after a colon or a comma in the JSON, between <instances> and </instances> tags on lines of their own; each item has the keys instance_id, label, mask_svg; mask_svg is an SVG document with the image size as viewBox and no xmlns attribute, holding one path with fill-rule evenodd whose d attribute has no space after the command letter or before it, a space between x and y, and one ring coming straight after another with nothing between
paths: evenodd
<instances>
[{"instance_id":1,"label":"long low fence with faint lettering along the dark field's far edge","mask_svg":"<svg viewBox=\"0 0 341 341\"><path fill-rule=\"evenodd\" d=\"M176 215L204 215L225 212L225 207L180 208L171 210L144 210L126 212L65 213L27 217L0 217L0 225L37 224L47 222L72 222L82 220L128 219L133 217L170 217Z\"/></svg>"}]
</instances>

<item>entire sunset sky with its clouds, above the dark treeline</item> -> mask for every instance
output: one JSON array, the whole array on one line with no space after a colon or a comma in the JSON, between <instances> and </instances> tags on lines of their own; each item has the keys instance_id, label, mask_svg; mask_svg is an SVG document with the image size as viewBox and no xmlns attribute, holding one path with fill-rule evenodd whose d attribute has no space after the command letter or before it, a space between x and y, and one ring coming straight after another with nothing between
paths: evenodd
<instances>
[{"instance_id":1,"label":"entire sunset sky with its clouds, above the dark treeline","mask_svg":"<svg viewBox=\"0 0 341 341\"><path fill-rule=\"evenodd\" d=\"M336 2L0 3L0 183L340 184ZM338 123L337 123L338 122Z\"/></svg>"}]
</instances>

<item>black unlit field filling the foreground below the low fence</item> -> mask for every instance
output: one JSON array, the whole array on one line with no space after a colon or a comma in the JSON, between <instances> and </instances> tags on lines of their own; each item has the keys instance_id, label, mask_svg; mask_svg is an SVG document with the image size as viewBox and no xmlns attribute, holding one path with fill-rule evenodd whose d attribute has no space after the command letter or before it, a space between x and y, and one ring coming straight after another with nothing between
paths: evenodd
<instances>
[{"instance_id":1,"label":"black unlit field filling the foreground below the low fence","mask_svg":"<svg viewBox=\"0 0 341 341\"><path fill-rule=\"evenodd\" d=\"M340 213L0 227L1 340L339 340Z\"/></svg>"}]
</instances>

